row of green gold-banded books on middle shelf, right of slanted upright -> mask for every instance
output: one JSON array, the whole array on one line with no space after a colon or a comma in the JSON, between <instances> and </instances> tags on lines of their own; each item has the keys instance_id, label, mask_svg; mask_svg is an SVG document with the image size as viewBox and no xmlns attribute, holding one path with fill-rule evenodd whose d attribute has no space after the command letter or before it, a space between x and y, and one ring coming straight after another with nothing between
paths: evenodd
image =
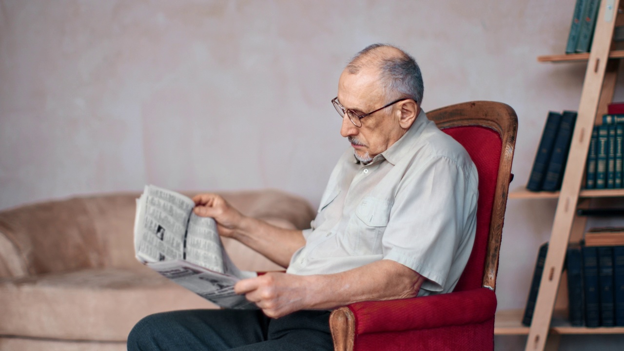
<instances>
[{"instance_id":1,"label":"row of green gold-banded books on middle shelf, right of slanted upright","mask_svg":"<svg viewBox=\"0 0 624 351\"><path fill-rule=\"evenodd\" d=\"M623 187L623 138L624 114L605 114L602 125L593 127L585 162L585 189Z\"/></svg>"}]
</instances>

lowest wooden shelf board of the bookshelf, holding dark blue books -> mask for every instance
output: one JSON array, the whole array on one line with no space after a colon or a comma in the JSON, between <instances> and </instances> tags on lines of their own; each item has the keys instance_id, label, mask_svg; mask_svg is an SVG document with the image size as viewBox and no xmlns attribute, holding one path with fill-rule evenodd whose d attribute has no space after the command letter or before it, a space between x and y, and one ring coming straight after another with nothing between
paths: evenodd
<instances>
[{"instance_id":1,"label":"lowest wooden shelf board of the bookshelf, holding dark blue books","mask_svg":"<svg viewBox=\"0 0 624 351\"><path fill-rule=\"evenodd\" d=\"M524 310L500 310L496 312L494 319L494 335L529 335L529 327L520 322ZM624 327L572 327L567 321L565 310L555 310L550 323L549 334L624 334Z\"/></svg>"}]
</instances>

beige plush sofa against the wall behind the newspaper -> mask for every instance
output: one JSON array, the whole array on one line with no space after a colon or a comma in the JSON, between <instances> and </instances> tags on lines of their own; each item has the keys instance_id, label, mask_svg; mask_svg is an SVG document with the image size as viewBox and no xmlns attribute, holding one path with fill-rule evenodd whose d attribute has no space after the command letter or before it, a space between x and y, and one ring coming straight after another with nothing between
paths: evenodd
<instances>
[{"instance_id":1,"label":"beige plush sofa against the wall behind the newspaper","mask_svg":"<svg viewBox=\"0 0 624 351\"><path fill-rule=\"evenodd\" d=\"M76 197L0 212L0 350L125 350L142 317L215 308L134 258L137 194ZM241 212L305 229L316 213L276 190L223 196ZM277 265L224 240L244 270Z\"/></svg>"}]
</instances>

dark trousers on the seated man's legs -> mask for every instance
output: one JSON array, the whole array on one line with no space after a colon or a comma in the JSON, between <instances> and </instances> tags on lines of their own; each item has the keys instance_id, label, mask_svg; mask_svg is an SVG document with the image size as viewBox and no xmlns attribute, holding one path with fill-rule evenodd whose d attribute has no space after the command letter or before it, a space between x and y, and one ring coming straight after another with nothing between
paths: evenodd
<instances>
[{"instance_id":1,"label":"dark trousers on the seated man's legs","mask_svg":"<svg viewBox=\"0 0 624 351\"><path fill-rule=\"evenodd\" d=\"M279 319L261 310L184 310L153 314L128 335L128 350L332 350L329 311Z\"/></svg>"}]
</instances>

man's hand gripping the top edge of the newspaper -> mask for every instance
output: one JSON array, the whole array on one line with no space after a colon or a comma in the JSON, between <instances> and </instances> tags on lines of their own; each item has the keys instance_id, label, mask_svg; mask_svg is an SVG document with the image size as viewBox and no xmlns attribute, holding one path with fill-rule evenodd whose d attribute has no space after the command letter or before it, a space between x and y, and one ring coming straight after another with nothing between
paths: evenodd
<instances>
[{"instance_id":1,"label":"man's hand gripping the top edge of the newspaper","mask_svg":"<svg viewBox=\"0 0 624 351\"><path fill-rule=\"evenodd\" d=\"M238 210L217 194L198 194L193 197L196 215L213 217L217 221L217 230L224 237L233 237L245 218Z\"/></svg>"}]
</instances>

